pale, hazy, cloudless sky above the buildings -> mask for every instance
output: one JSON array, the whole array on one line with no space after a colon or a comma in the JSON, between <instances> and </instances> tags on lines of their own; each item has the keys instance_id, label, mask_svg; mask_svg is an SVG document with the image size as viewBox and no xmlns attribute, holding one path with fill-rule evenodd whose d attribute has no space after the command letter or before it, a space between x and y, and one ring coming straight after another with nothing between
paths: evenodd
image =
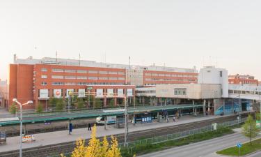
<instances>
[{"instance_id":1,"label":"pale, hazy, cloudless sky above the buildings","mask_svg":"<svg viewBox=\"0 0 261 157\"><path fill-rule=\"evenodd\" d=\"M0 78L18 58L198 69L261 80L260 0L0 0ZM105 57L106 56L106 57ZM106 59L105 59L106 58Z\"/></svg>"}]
</instances>

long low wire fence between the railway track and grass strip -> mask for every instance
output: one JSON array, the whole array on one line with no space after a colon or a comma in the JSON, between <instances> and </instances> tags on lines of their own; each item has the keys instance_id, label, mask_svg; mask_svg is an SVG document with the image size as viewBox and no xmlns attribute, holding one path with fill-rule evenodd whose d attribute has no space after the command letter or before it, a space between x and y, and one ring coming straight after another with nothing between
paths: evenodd
<instances>
[{"instance_id":1,"label":"long low wire fence between the railway track and grass strip","mask_svg":"<svg viewBox=\"0 0 261 157\"><path fill-rule=\"evenodd\" d=\"M217 124L217 128L224 127L224 126L235 126L237 124L243 123L244 121L246 121L246 118L237 119L235 121L226 121L226 122ZM167 142L167 141L170 141L170 140L178 140L180 138L187 137L189 135L206 133L206 132L209 132L209 131L212 131L212 130L214 130L214 126L208 125L208 126L204 126L204 127L201 127L201 128L195 128L195 129L191 129L191 130L182 131L182 132L179 132L179 133L161 135L161 136L157 136L157 137L150 137L150 138L143 139L143 140L136 140L136 141L133 141L133 142L127 142L127 146L128 146L128 148L132 149L132 147L135 147L136 145L157 144L157 143L161 143L161 142ZM119 147L124 147L124 143L120 143Z\"/></svg>"}]
</instances>

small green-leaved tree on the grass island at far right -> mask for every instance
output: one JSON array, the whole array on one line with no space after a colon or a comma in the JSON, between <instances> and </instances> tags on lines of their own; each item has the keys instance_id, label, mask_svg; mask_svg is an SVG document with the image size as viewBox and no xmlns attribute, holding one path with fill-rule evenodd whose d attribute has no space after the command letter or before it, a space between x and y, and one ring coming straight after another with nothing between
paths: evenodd
<instances>
[{"instance_id":1,"label":"small green-leaved tree on the grass island at far right","mask_svg":"<svg viewBox=\"0 0 261 157\"><path fill-rule=\"evenodd\" d=\"M249 114L248 119L246 119L246 122L243 126L243 132L246 137L250 138L250 145L252 146L252 139L256 136L258 136L259 130L256 127L255 121L253 117Z\"/></svg>"}]
</instances>

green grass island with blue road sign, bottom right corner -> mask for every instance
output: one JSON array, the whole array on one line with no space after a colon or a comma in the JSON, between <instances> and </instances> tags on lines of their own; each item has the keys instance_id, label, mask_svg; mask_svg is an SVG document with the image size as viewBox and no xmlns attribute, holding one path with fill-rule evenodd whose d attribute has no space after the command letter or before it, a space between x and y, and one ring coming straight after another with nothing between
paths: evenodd
<instances>
[{"instance_id":1,"label":"green grass island with blue road sign, bottom right corner","mask_svg":"<svg viewBox=\"0 0 261 157\"><path fill-rule=\"evenodd\" d=\"M250 145L250 142L243 144L243 146L240 148L240 156L245 156L258 150L261 150L261 138L252 141L252 146ZM216 153L221 155L239 156L239 151L237 147L230 147Z\"/></svg>"}]
</instances>

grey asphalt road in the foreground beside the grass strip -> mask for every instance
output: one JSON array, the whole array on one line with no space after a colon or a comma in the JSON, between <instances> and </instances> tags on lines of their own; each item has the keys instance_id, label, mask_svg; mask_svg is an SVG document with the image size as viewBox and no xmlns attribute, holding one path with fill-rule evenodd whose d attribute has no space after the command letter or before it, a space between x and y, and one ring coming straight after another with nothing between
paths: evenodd
<instances>
[{"instance_id":1,"label":"grey asphalt road in the foreground beside the grass strip","mask_svg":"<svg viewBox=\"0 0 261 157\"><path fill-rule=\"evenodd\" d=\"M244 137L242 133L234 133L232 135L158 151L140 157L217 157L214 152L225 149L226 147L235 146L237 142L247 142L248 140L249 139ZM260 154L261 152L258 152L257 154L251 155L251 157L260 157Z\"/></svg>"}]
</instances>

